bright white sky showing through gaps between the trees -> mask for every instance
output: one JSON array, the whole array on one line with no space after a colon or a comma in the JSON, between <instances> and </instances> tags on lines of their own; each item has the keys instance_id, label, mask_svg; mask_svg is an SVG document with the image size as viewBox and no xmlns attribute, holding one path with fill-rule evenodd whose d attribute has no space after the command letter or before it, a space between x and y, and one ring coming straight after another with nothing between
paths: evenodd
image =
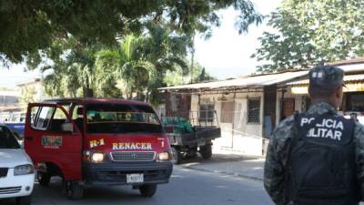
<instances>
[{"instance_id":1,"label":"bright white sky showing through gaps between the trees","mask_svg":"<svg viewBox=\"0 0 364 205\"><path fill-rule=\"evenodd\" d=\"M252 0L259 13L268 15L275 10L281 0ZM238 35L235 28L238 13L232 8L221 11L221 26L213 31L208 40L195 38L195 59L206 68L207 72L218 79L245 76L254 73L259 65L250 56L259 47L258 37L264 31L272 30L266 26L267 21L259 26L250 26L248 34ZM15 87L17 83L41 77L41 74L25 72L24 65L12 65L0 68L0 87Z\"/></svg>"}]
</instances>

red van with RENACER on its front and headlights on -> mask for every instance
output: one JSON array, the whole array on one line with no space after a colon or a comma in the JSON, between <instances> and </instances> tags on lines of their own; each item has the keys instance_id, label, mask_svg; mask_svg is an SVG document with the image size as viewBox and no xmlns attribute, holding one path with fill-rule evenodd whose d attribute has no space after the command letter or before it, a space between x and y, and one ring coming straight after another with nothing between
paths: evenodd
<instances>
[{"instance_id":1,"label":"red van with RENACER on its front and headlights on","mask_svg":"<svg viewBox=\"0 0 364 205\"><path fill-rule=\"evenodd\" d=\"M85 185L131 185L152 197L172 173L167 135L147 103L106 98L71 98L30 103L25 150L40 185L64 179L69 199Z\"/></svg>"}]
</instances>

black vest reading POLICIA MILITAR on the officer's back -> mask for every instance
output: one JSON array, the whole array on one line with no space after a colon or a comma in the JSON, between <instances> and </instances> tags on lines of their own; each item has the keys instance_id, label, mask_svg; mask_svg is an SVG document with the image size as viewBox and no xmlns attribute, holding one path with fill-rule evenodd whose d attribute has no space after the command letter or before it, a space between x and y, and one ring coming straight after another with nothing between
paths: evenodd
<instances>
[{"instance_id":1,"label":"black vest reading POLICIA MILITAR on the officer's back","mask_svg":"<svg viewBox=\"0 0 364 205\"><path fill-rule=\"evenodd\" d=\"M286 186L295 205L358 204L355 122L333 115L295 116Z\"/></svg>"}]
</instances>

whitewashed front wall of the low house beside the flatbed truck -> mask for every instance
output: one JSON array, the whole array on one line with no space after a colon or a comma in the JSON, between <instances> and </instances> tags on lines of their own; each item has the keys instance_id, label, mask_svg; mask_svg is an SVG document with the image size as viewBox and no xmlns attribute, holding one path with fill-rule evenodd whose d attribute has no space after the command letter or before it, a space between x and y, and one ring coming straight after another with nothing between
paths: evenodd
<instances>
[{"instance_id":1,"label":"whitewashed front wall of the low house beside the flatbed truck","mask_svg":"<svg viewBox=\"0 0 364 205\"><path fill-rule=\"evenodd\" d=\"M230 93L225 95L227 100L224 102L235 102L235 118L233 123L221 123L221 104L218 100L222 94L200 95L201 104L204 102L214 102L217 111L217 120L221 128L221 138L214 141L214 150L229 149L243 154L261 155L262 154L262 133L263 133L263 93ZM248 99L260 98L260 122L248 123ZM240 109L238 109L240 105ZM198 96L191 97L191 110L198 110ZM233 113L232 113L233 114ZM234 127L234 128L233 128Z\"/></svg>"}]
</instances>

